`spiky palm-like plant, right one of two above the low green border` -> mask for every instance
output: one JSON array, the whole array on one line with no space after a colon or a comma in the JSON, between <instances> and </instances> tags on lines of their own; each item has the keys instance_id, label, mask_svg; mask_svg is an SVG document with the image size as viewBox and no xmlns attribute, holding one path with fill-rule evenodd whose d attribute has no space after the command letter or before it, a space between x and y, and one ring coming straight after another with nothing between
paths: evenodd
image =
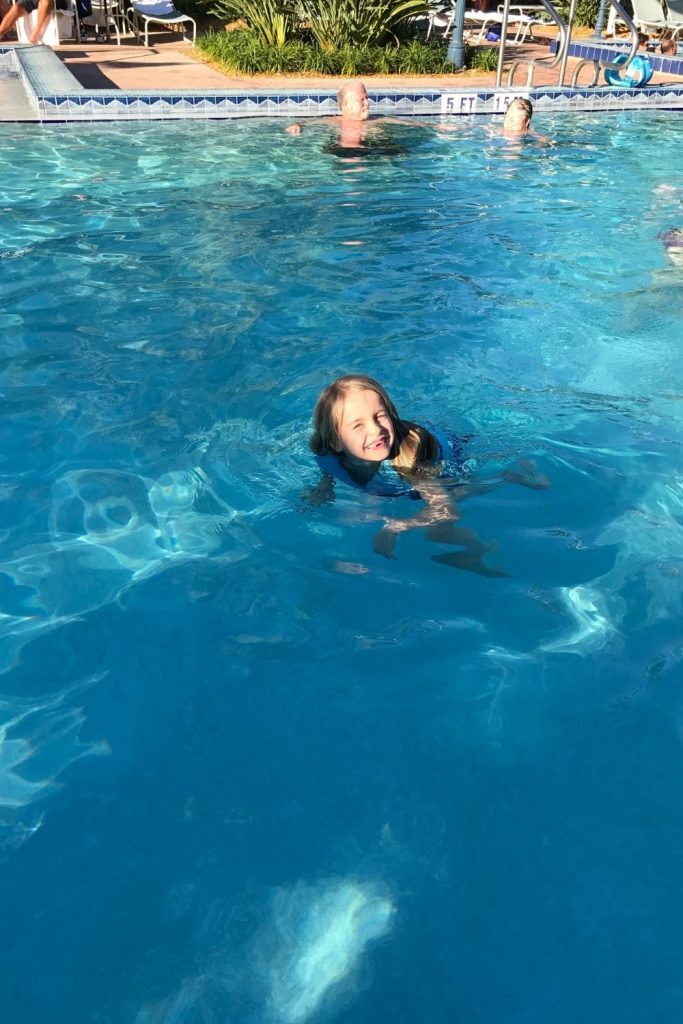
<instances>
[{"instance_id":1,"label":"spiky palm-like plant, right one of two above the low green border","mask_svg":"<svg viewBox=\"0 0 683 1024\"><path fill-rule=\"evenodd\" d=\"M427 7L426 0L297 0L299 17L323 50L376 46Z\"/></svg>"}]
</instances>

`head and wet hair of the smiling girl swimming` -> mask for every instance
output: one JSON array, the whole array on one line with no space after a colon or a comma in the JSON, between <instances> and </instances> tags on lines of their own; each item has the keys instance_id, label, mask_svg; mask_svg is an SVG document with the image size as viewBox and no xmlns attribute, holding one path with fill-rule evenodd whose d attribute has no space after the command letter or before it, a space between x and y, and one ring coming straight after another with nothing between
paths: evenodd
<instances>
[{"instance_id":1,"label":"head and wet hair of the smiling girl swimming","mask_svg":"<svg viewBox=\"0 0 683 1024\"><path fill-rule=\"evenodd\" d=\"M321 392L313 412L310 449L337 455L348 464L390 460L396 469L432 462L438 445L432 434L408 420L372 377L339 377Z\"/></svg>"}]
</instances>

